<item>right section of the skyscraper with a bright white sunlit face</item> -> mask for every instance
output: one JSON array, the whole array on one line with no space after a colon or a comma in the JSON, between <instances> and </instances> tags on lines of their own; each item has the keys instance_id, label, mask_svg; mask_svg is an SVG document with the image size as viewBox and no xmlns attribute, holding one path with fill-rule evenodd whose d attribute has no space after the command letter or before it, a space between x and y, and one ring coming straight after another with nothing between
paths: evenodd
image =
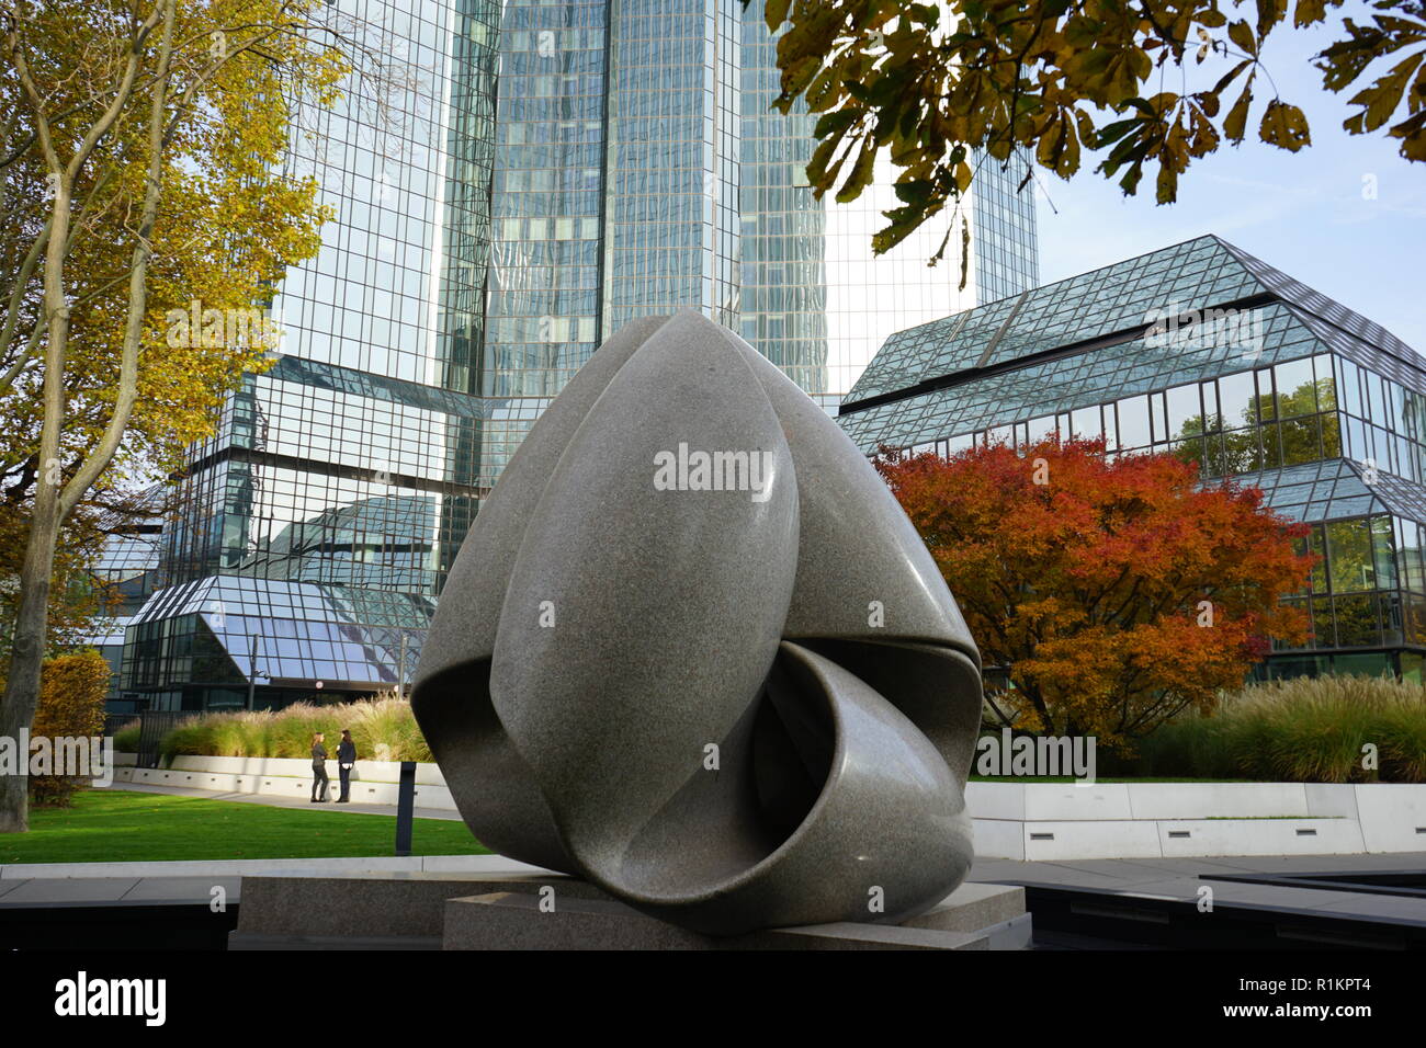
<instances>
[{"instance_id":1,"label":"right section of the skyscraper with a bright white sunlit face","mask_svg":"<svg viewBox=\"0 0 1426 1048\"><path fill-rule=\"evenodd\" d=\"M938 215L883 255L871 237L901 207L898 170L883 154L873 184L838 204L817 200L806 167L817 118L803 103L784 117L777 40L761 0L743 19L742 275L739 334L829 409L896 331L1038 284L1034 185L1021 188L1025 158L978 163L953 212ZM961 288L961 222L970 237ZM927 265L945 237L945 258Z\"/></svg>"}]
</instances>

